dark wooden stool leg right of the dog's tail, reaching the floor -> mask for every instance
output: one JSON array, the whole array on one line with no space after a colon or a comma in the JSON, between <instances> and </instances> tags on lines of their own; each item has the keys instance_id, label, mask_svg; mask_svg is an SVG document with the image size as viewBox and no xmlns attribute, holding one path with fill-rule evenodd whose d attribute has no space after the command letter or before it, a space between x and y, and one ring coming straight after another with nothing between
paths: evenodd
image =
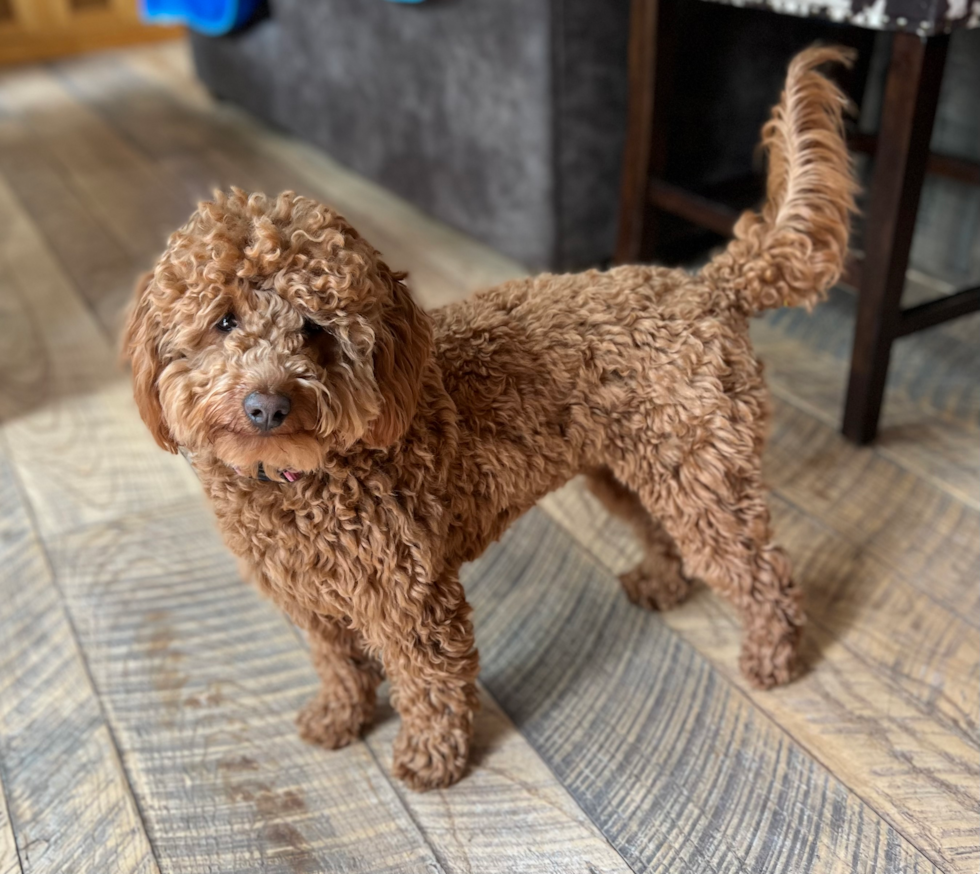
<instances>
[{"instance_id":1,"label":"dark wooden stool leg right of the dog's tail, reaching the floor","mask_svg":"<svg viewBox=\"0 0 980 874\"><path fill-rule=\"evenodd\" d=\"M896 33L892 44L842 428L855 443L878 429L948 43Z\"/></svg>"}]
</instances>

